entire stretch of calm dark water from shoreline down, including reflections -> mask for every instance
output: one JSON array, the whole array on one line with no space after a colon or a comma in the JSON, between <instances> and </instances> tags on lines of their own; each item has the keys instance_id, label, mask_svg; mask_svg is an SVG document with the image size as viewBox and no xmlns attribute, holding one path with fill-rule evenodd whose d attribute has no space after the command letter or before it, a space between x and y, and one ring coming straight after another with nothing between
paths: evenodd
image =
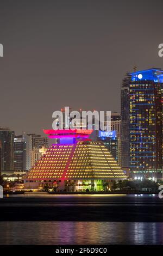
<instances>
[{"instance_id":1,"label":"entire stretch of calm dark water from shoreline down, including reflections","mask_svg":"<svg viewBox=\"0 0 163 256\"><path fill-rule=\"evenodd\" d=\"M163 202L154 194L131 196L26 194L5 197L0 201L0 209L2 213L5 210L8 216L12 214L29 216L29 221L26 221L28 218L25 221L21 218L20 221L16 219L8 221L9 217L3 219L5 221L0 221L0 245L163 245L161 217ZM43 209L47 209L47 221L39 219L30 221L30 215L36 210L37 214L40 214ZM77 209L76 215L85 214L85 209L90 209L89 211L93 209L92 212L86 213L90 216L93 214L94 217L101 214L110 215L108 220L112 219L112 221L104 221L104 217L101 218L102 221L93 221L92 217L90 221L79 219L79 221L70 221L75 209ZM56 221L56 212L59 216L64 215L63 220L67 216L67 221ZM121 217L124 214L125 222L124 216ZM55 215L54 221L53 215ZM120 219L118 222L112 218L115 215L118 220ZM51 219L48 216L51 216ZM130 216L134 216L131 221ZM136 221L136 216L141 217L141 222ZM149 222L146 222L147 218ZM152 221L152 218L155 221Z\"/></svg>"}]
</instances>

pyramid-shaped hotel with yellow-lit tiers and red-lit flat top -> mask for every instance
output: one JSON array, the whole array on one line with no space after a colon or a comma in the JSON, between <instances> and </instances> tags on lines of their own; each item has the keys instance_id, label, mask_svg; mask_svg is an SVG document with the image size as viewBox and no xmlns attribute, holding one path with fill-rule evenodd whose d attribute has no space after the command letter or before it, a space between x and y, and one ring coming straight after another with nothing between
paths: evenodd
<instances>
[{"instance_id":1,"label":"pyramid-shaped hotel with yellow-lit tiers and red-lit flat top","mask_svg":"<svg viewBox=\"0 0 163 256\"><path fill-rule=\"evenodd\" d=\"M126 178L102 142L89 139L92 130L43 130L49 138L59 139L30 169L25 188L48 184L53 190L102 191L104 184Z\"/></svg>"}]
</instances>

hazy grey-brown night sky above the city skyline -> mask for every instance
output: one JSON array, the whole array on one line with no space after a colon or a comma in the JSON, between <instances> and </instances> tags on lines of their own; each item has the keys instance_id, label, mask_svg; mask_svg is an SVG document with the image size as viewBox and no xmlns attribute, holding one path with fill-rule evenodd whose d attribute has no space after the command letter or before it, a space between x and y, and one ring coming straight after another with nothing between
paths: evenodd
<instances>
[{"instance_id":1,"label":"hazy grey-brown night sky above the city skyline","mask_svg":"<svg viewBox=\"0 0 163 256\"><path fill-rule=\"evenodd\" d=\"M162 8L162 0L0 0L0 125L41 133L63 106L120 111L126 71L163 68Z\"/></svg>"}]
</instances>

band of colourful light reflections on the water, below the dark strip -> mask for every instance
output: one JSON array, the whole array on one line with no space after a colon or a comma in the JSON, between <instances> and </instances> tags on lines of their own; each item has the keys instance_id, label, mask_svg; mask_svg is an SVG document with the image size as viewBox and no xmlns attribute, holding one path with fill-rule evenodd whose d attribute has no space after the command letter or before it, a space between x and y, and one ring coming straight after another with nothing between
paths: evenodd
<instances>
[{"instance_id":1,"label":"band of colourful light reflections on the water, below the dark strip","mask_svg":"<svg viewBox=\"0 0 163 256\"><path fill-rule=\"evenodd\" d=\"M163 245L163 223L0 222L0 245Z\"/></svg>"}]
</instances>

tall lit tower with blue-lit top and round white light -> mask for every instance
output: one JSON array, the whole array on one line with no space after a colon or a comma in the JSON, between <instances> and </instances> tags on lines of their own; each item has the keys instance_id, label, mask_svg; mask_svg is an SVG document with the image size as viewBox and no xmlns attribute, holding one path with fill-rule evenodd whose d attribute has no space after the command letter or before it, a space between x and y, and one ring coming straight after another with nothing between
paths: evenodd
<instances>
[{"instance_id":1,"label":"tall lit tower with blue-lit top and round white light","mask_svg":"<svg viewBox=\"0 0 163 256\"><path fill-rule=\"evenodd\" d=\"M129 83L129 162L133 178L162 178L160 69L136 71Z\"/></svg>"}]
</instances>

